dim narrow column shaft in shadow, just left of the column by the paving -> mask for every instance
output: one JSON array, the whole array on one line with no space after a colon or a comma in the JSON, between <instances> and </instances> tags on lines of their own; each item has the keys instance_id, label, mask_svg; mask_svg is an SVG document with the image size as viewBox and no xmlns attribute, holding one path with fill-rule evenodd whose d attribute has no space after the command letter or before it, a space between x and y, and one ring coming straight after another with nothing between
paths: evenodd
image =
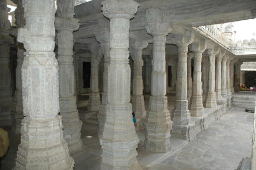
<instances>
[{"instance_id":1,"label":"dim narrow column shaft in shadow, just left of the column by the paving","mask_svg":"<svg viewBox=\"0 0 256 170\"><path fill-rule=\"evenodd\" d=\"M151 72L152 72L152 59L146 58L145 60L145 87L144 92L151 92Z\"/></svg>"}]
</instances>

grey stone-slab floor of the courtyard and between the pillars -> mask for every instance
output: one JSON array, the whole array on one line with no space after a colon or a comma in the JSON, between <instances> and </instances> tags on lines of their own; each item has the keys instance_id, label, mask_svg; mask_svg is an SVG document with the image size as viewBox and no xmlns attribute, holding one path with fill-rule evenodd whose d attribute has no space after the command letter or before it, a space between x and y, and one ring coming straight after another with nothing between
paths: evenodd
<instances>
[{"instance_id":1,"label":"grey stone-slab floor of the courtyard and between the pillars","mask_svg":"<svg viewBox=\"0 0 256 170\"><path fill-rule=\"evenodd\" d=\"M252 127L253 114L245 112L244 108L233 108L206 131L198 133L196 140L187 142L171 137L172 149L167 153L145 151L144 131L140 129L137 131L139 169L234 170L242 158L251 157ZM20 138L11 134L11 127L3 128L9 132L10 148L2 158L0 169L9 170L15 165ZM70 154L75 159L75 170L100 169L98 126L84 123L81 133L82 149Z\"/></svg>"}]
</instances>

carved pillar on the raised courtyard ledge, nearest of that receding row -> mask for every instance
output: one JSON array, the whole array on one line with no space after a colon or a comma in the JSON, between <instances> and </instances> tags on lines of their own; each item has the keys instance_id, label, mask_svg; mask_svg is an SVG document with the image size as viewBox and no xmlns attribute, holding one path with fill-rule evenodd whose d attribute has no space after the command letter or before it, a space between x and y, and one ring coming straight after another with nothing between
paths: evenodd
<instances>
[{"instance_id":1,"label":"carved pillar on the raised courtyard ledge, nearest of that receding row","mask_svg":"<svg viewBox=\"0 0 256 170\"><path fill-rule=\"evenodd\" d=\"M195 137L194 131L189 131L188 128L191 123L191 117L187 100L188 45L194 41L194 38L195 35L191 31L186 30L186 34L175 35L175 39L172 39L172 42L178 46L176 101L172 111L172 135L188 141Z\"/></svg>"}]
</instances>

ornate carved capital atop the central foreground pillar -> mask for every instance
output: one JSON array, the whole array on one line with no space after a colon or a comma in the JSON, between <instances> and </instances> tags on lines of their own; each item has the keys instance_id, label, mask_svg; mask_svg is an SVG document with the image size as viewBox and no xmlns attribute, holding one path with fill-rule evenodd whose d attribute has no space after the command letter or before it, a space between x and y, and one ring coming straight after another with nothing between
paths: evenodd
<instances>
[{"instance_id":1,"label":"ornate carved capital atop the central foreground pillar","mask_svg":"<svg viewBox=\"0 0 256 170\"><path fill-rule=\"evenodd\" d=\"M101 3L103 5L103 15L107 18L124 18L130 20L137 13L139 3L132 0L107 0ZM129 29L129 28L128 28Z\"/></svg>"}]
</instances>

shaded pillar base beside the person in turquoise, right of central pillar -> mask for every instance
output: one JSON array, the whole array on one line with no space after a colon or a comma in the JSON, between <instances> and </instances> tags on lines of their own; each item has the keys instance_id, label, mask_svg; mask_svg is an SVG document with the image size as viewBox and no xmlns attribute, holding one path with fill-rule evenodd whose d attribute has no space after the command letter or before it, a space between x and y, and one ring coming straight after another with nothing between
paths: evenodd
<instances>
[{"instance_id":1,"label":"shaded pillar base beside the person in turquoise, right of central pillar","mask_svg":"<svg viewBox=\"0 0 256 170\"><path fill-rule=\"evenodd\" d=\"M143 95L132 95L132 110L135 112L136 118L143 118L146 116Z\"/></svg>"}]
</instances>

